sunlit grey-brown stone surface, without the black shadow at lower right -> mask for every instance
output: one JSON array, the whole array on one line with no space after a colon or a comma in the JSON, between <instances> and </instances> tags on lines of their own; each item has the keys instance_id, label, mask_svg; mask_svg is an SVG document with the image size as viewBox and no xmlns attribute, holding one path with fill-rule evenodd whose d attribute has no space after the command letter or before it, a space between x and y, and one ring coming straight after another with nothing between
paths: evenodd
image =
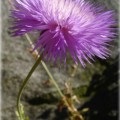
<instances>
[{"instance_id":1,"label":"sunlit grey-brown stone surface, without the black shadow at lower right","mask_svg":"<svg viewBox=\"0 0 120 120\"><path fill-rule=\"evenodd\" d=\"M91 0L92 2L96 0ZM103 1L102 1L103 2ZM117 0L105 0L104 3L108 8L115 9L118 12ZM29 52L30 45L24 36L11 37L8 28L11 20L10 4L8 0L2 1L2 120L17 120L15 115L16 97L23 79L33 66L35 60ZM35 40L37 34L34 33ZM117 43L115 43L117 44ZM115 49L114 49L115 50ZM116 49L117 51L117 49ZM116 56L117 52L113 52ZM114 58L113 58L114 59ZM73 71L72 61L68 61L65 68L58 68L47 63L56 82L64 89L65 81L71 82L73 89L88 86L92 75L95 73L102 74L105 69L99 63L88 65L83 69L80 65L74 77L71 77ZM58 112L57 105L59 96L52 84L45 84L49 80L42 65L39 65L33 73L30 81L22 95L22 103L30 120L68 120L67 113ZM79 92L82 92L79 91ZM79 93L78 94L82 94ZM79 96L79 95L78 95ZM65 113L65 115L64 115Z\"/></svg>"}]
</instances>

